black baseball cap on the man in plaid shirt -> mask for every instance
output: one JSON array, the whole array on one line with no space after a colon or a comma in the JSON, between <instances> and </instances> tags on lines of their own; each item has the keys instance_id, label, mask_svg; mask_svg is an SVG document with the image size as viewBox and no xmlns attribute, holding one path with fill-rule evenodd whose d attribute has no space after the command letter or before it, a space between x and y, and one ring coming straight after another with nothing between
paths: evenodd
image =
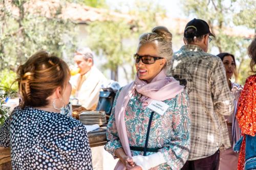
<instances>
[{"instance_id":1,"label":"black baseball cap on the man in plaid shirt","mask_svg":"<svg viewBox=\"0 0 256 170\"><path fill-rule=\"evenodd\" d=\"M185 34L188 29L195 29L195 34ZM210 36L214 36L210 32L210 28L207 22L202 19L192 19L190 20L184 30L184 37L186 38L193 38L194 36L198 37L201 35L209 34ZM214 36L215 37L215 36Z\"/></svg>"}]
</instances>

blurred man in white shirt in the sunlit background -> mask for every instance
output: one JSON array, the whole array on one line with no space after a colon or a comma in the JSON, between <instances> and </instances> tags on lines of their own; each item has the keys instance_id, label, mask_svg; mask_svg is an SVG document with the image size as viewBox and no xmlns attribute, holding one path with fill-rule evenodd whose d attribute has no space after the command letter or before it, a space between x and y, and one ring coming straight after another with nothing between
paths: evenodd
<instances>
[{"instance_id":1,"label":"blurred man in white shirt in the sunlit background","mask_svg":"<svg viewBox=\"0 0 256 170\"><path fill-rule=\"evenodd\" d=\"M93 65L93 53L88 47L79 48L74 61L79 67L79 74L72 76L72 95L87 110L95 110L99 101L101 84L106 80L104 75Z\"/></svg>"}]
</instances>

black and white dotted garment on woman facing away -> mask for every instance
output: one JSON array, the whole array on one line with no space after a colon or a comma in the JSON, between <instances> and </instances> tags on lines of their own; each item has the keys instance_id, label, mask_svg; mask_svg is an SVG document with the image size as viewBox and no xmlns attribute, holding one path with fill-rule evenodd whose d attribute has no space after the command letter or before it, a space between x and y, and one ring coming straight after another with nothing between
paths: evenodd
<instances>
[{"instance_id":1,"label":"black and white dotted garment on woman facing away","mask_svg":"<svg viewBox=\"0 0 256 170\"><path fill-rule=\"evenodd\" d=\"M0 146L11 147L15 169L92 169L86 128L72 117L16 108L0 127Z\"/></svg>"}]
</instances>

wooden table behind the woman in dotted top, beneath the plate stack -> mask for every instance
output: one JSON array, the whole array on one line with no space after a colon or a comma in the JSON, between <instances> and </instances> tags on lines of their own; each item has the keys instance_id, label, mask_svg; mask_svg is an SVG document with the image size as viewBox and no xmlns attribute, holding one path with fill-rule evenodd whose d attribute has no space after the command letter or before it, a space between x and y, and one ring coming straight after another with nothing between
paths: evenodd
<instances>
[{"instance_id":1,"label":"wooden table behind the woman in dotted top, beneath the plate stack","mask_svg":"<svg viewBox=\"0 0 256 170\"><path fill-rule=\"evenodd\" d=\"M106 143L106 125L103 125L95 131L88 133L90 147L98 147ZM10 170L11 168L11 150L10 148L0 147L0 170Z\"/></svg>"}]
</instances>

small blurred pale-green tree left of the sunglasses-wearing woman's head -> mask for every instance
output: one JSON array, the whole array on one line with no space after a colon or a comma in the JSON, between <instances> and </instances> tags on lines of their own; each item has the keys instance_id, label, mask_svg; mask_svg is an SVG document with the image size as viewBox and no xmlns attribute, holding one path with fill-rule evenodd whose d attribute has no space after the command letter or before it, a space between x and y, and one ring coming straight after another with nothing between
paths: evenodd
<instances>
[{"instance_id":1,"label":"small blurred pale-green tree left of the sunglasses-wearing woman's head","mask_svg":"<svg viewBox=\"0 0 256 170\"><path fill-rule=\"evenodd\" d=\"M129 25L123 21L95 21L88 28L90 47L97 53L104 55L107 62L104 68L115 72L117 80L118 66L131 62L130 48L124 47L123 40L131 36Z\"/></svg>"}]
</instances>

